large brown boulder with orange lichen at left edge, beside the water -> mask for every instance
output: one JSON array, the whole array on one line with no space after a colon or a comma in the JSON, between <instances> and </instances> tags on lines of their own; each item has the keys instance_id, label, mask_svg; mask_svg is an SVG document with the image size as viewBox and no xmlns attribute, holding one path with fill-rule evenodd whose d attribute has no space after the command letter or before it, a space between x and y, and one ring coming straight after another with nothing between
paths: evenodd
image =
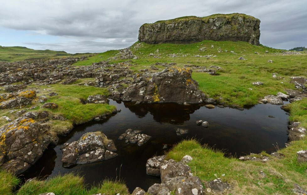
<instances>
[{"instance_id":1,"label":"large brown boulder with orange lichen at left edge, beside the water","mask_svg":"<svg viewBox=\"0 0 307 195\"><path fill-rule=\"evenodd\" d=\"M0 128L0 166L15 174L30 168L51 143L49 126L20 117Z\"/></svg>"}]
</instances>

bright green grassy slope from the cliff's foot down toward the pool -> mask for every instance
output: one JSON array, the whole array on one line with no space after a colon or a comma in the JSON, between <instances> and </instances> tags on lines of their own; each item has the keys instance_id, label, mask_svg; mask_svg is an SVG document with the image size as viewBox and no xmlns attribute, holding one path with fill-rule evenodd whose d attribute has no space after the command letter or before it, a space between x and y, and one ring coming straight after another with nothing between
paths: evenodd
<instances>
[{"instance_id":1,"label":"bright green grassy slope from the cliff's foot down toward the pool","mask_svg":"<svg viewBox=\"0 0 307 195\"><path fill-rule=\"evenodd\" d=\"M211 48L213 45L213 48ZM199 51L206 47L205 51ZM157 44L135 43L131 50L138 59L133 59L130 69L138 72L149 68L157 62L176 63L176 66L220 66L217 75L193 72L192 77L199 83L199 88L212 98L223 98L228 105L252 106L257 104L259 98L268 94L285 92L287 88L294 88L289 83L291 76L307 77L306 53L300 55L282 55L282 50L256 46L247 42L209 41L205 40L193 44ZM157 50L159 52L157 52ZM221 52L219 52L221 51ZM233 53L231 52L233 51ZM265 53L268 51L268 53ZM107 60L118 51L100 53L88 60L77 62L75 65L89 65L93 62ZM257 52L257 53L255 53ZM153 56L150 56L153 53ZM176 54L178 57L170 57ZM194 55L212 55L209 59L194 57ZM154 56L158 58L154 58ZM239 60L244 57L246 60ZM268 63L272 60L273 63ZM118 63L127 60L110 60ZM161 70L165 67L156 66ZM160 71L160 70L159 70ZM272 78L272 73L278 73L278 79ZM252 83L261 81L264 85L254 86Z\"/></svg>"}]
</instances>

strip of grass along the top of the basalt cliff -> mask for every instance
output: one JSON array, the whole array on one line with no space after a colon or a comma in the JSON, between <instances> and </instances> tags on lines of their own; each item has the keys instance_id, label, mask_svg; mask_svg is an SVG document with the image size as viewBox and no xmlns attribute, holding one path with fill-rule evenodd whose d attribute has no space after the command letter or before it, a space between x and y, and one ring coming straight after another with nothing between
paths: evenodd
<instances>
[{"instance_id":1,"label":"strip of grass along the top of the basalt cliff","mask_svg":"<svg viewBox=\"0 0 307 195\"><path fill-rule=\"evenodd\" d=\"M230 20L231 18L238 18L238 17L242 17L245 19L256 19L255 17L243 14L243 13L231 13L231 14L213 14L210 16L205 16L205 17L197 17L197 16L184 16L184 17L177 17L175 19L170 19L170 20L159 20L157 22L154 22L153 24L159 24L159 23L166 23L166 24L170 24L173 22L182 22L182 21L190 21L190 20L202 20L204 22L208 22L210 19L214 19L216 17L224 17L228 20ZM150 23L145 23L142 26L146 26L146 25L151 25Z\"/></svg>"}]
</instances>

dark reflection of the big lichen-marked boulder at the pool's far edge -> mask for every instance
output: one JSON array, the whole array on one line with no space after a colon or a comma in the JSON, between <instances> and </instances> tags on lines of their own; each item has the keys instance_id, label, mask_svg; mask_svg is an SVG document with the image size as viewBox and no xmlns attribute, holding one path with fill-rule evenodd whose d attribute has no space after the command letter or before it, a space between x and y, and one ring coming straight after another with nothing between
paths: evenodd
<instances>
[{"instance_id":1,"label":"dark reflection of the big lichen-marked boulder at the pool's far edge","mask_svg":"<svg viewBox=\"0 0 307 195\"><path fill-rule=\"evenodd\" d=\"M182 124L190 120L190 114L194 113L202 106L201 104L185 106L176 103L135 105L129 102L125 102L124 105L140 118L145 117L149 112L153 115L155 121L172 124Z\"/></svg>"}]
</instances>

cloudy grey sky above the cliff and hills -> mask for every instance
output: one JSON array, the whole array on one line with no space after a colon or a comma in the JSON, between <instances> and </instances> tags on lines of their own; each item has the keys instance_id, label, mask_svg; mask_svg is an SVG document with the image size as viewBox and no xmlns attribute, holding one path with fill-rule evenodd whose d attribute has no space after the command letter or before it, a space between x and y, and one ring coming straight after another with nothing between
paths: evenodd
<instances>
[{"instance_id":1,"label":"cloudy grey sky above the cliff and hills","mask_svg":"<svg viewBox=\"0 0 307 195\"><path fill-rule=\"evenodd\" d=\"M261 20L261 44L307 47L306 0L3 0L0 5L1 46L100 53L132 45L143 23L237 12Z\"/></svg>"}]
</instances>

